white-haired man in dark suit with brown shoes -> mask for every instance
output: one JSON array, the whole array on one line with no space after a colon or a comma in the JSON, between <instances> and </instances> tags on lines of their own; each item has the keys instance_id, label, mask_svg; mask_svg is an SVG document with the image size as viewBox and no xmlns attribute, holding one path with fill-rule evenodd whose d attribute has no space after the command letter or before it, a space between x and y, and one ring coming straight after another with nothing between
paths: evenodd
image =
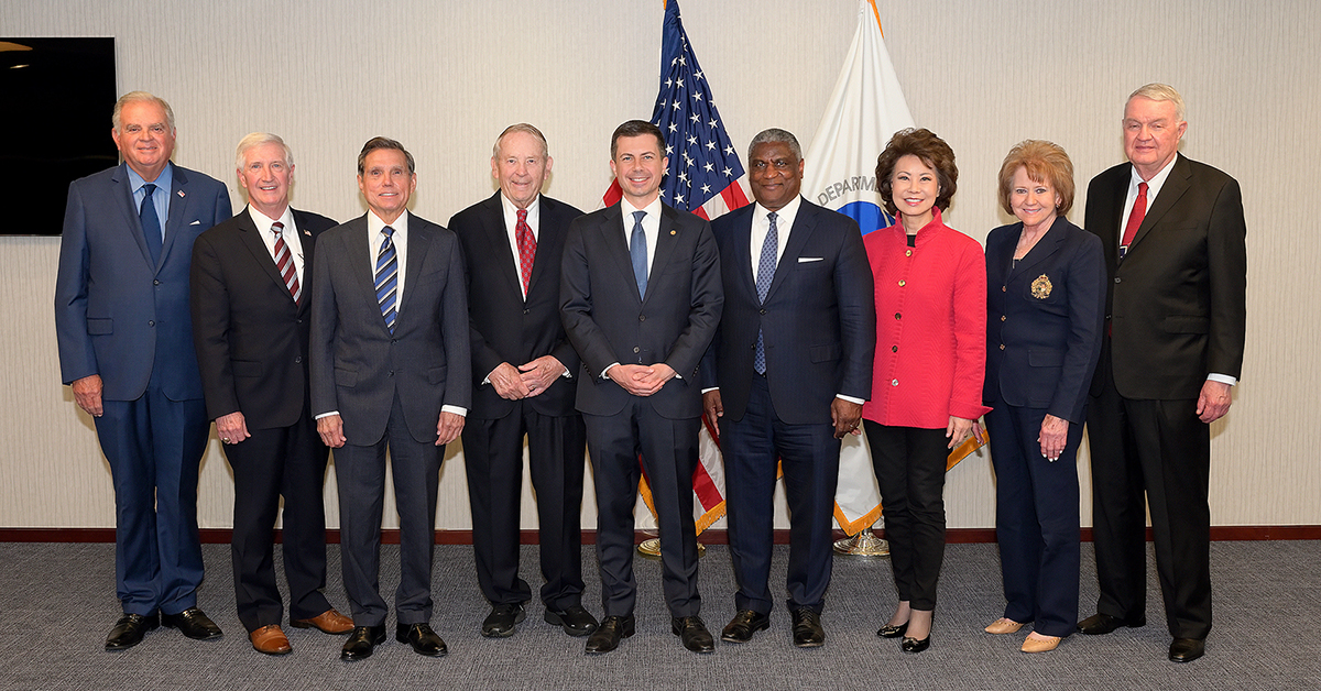
<instances>
[{"instance_id":1,"label":"white-haired man in dark suit with brown shoes","mask_svg":"<svg viewBox=\"0 0 1321 691\"><path fill-rule=\"evenodd\" d=\"M193 244L193 342L207 416L234 470L234 595L252 647L291 651L280 629L271 528L284 497L289 624L349 633L326 585L325 482L329 449L308 398L308 330L316 239L336 225L289 207L293 152L252 132L238 147L248 206Z\"/></svg>"}]
</instances>

